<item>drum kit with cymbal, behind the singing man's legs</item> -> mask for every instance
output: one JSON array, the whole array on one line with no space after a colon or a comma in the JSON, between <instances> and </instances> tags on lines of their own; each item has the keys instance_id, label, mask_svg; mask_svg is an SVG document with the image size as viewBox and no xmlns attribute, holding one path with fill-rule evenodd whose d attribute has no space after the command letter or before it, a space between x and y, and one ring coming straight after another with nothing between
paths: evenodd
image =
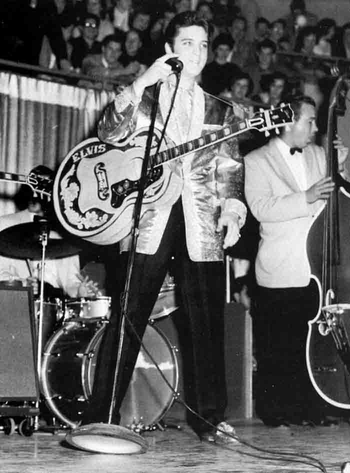
<instances>
[{"instance_id":1,"label":"drum kit with cymbal, behind the singing man's legs","mask_svg":"<svg viewBox=\"0 0 350 473\"><path fill-rule=\"evenodd\" d=\"M81 248L50 231L47 220L21 223L0 232L0 253L12 258L41 259L40 298L34 300L37 376L40 405L47 406L53 427L76 428L92 392L96 358L110 317L110 297L44 297L45 258L77 254ZM176 348L156 321L177 309L175 285L167 274L143 337L129 388L121 405L120 424L134 431L160 426L178 386ZM148 357L156 361L173 390ZM40 409L41 410L41 409ZM57 423L58 421L58 423ZM117 428L117 426L115 426ZM80 427L81 429L81 427Z\"/></svg>"}]
</instances>

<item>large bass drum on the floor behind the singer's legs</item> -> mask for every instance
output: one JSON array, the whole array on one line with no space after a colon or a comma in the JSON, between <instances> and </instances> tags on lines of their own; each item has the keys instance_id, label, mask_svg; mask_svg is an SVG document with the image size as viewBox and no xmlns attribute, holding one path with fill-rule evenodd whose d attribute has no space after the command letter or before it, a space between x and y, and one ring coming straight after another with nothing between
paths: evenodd
<instances>
[{"instance_id":1,"label":"large bass drum on the floor behind the singer's legs","mask_svg":"<svg viewBox=\"0 0 350 473\"><path fill-rule=\"evenodd\" d=\"M76 427L91 395L96 357L106 320L68 321L45 346L41 366L41 392L54 416ZM176 348L154 324L148 324L143 343L172 389L141 348L120 408L124 426L156 424L170 408L178 386Z\"/></svg>"}]
</instances>

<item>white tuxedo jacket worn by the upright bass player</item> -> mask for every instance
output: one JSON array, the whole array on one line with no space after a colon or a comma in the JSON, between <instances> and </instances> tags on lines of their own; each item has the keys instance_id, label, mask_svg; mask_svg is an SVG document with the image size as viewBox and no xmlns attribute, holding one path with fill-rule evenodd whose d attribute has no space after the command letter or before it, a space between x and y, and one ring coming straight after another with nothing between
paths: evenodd
<instances>
[{"instance_id":1,"label":"white tuxedo jacket worn by the upright bass player","mask_svg":"<svg viewBox=\"0 0 350 473\"><path fill-rule=\"evenodd\" d=\"M325 153L312 144L304 148L303 156L308 188L325 175ZM244 162L246 200L260 222L257 283L264 287L306 286L310 279L307 233L324 203L306 202L305 191L299 188L276 139L247 154Z\"/></svg>"}]
</instances>

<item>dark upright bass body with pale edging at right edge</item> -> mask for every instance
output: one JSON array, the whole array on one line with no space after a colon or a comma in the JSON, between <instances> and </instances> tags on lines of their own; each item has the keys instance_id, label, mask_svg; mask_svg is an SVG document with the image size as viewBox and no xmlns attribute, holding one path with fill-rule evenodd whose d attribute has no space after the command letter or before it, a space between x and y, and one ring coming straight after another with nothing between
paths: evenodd
<instances>
[{"instance_id":1,"label":"dark upright bass body with pale edging at right edge","mask_svg":"<svg viewBox=\"0 0 350 473\"><path fill-rule=\"evenodd\" d=\"M336 300L331 299L331 292L323 294L322 247L325 209L313 220L307 238L307 254L312 277L317 283L318 300L315 301L316 316L308 321L306 340L306 365L310 380L317 393L329 404L350 409L350 355L346 353L347 334L350 337L350 200L338 191L339 212L342 215L340 230L340 260L333 261L332 279L337 287ZM336 325L335 325L336 322ZM333 330L328 330L332 327ZM332 333L340 335L344 349L339 354Z\"/></svg>"}]
</instances>

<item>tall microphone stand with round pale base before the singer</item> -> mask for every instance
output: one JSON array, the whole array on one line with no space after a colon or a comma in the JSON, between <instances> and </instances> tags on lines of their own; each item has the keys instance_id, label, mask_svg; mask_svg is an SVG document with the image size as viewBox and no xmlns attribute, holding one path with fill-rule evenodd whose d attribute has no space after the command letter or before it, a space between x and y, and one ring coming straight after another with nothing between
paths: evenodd
<instances>
[{"instance_id":1,"label":"tall microphone stand with round pale base before the singer","mask_svg":"<svg viewBox=\"0 0 350 473\"><path fill-rule=\"evenodd\" d=\"M141 175L138 184L137 196L133 209L133 224L131 228L131 247L129 252L129 259L126 269L126 279L122 298L121 306L121 318L118 330L118 344L116 366L114 371L112 394L109 404L108 411L108 422L107 423L92 423L87 425L81 425L72 432L69 432L66 436L68 443L71 443L77 448L83 450L95 451L100 453L140 453L146 451L148 445L147 442L138 433L119 425L113 425L111 423L112 414L115 406L115 398L117 394L117 383L120 369L121 353L124 342L124 331L125 331L125 318L127 317L129 290L131 274L135 261L135 253L137 246L137 238L139 234L139 220L141 215L141 206L144 189L147 182L147 170L150 157L150 151L152 147L153 131L155 125L156 111L158 107L159 92L160 92L161 81L158 80L156 83L155 95L151 110L151 122L149 125L147 141L144 151L144 157L142 160ZM116 441L116 437L120 442ZM100 442L98 440L100 439Z\"/></svg>"}]
</instances>

